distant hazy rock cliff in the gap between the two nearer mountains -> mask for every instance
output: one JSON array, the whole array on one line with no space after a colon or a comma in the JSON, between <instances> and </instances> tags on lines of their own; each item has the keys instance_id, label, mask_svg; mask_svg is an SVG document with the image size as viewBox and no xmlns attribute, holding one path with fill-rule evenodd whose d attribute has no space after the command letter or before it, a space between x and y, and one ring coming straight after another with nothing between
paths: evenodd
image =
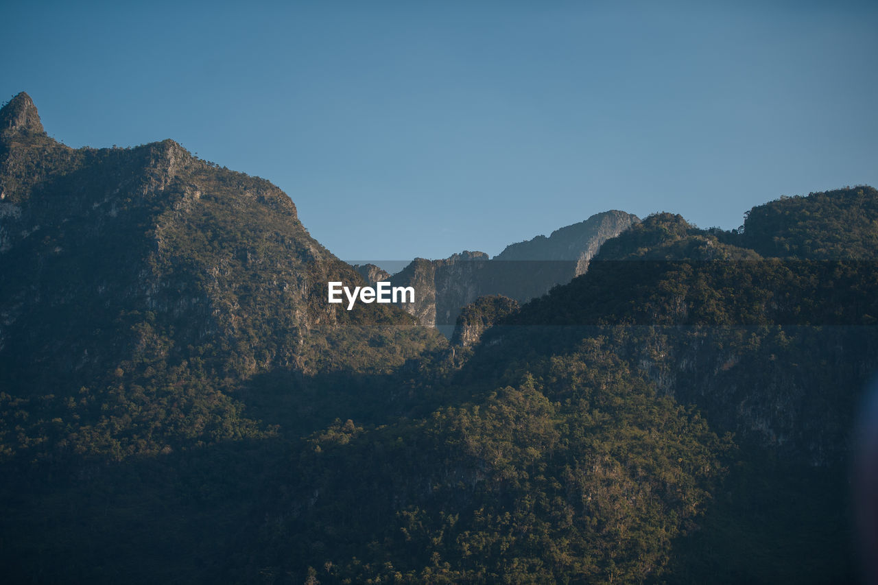
<instances>
[{"instance_id":1,"label":"distant hazy rock cliff in the gap between the two nearer mountains","mask_svg":"<svg viewBox=\"0 0 878 585\"><path fill-rule=\"evenodd\" d=\"M548 293L587 271L588 263L608 239L639 220L619 211L597 213L562 227L548 238L507 246L488 259L483 252L464 251L444 260L416 259L393 275L394 285L414 286L414 305L403 306L425 327L451 336L461 308L481 296L503 295L519 303Z\"/></svg>"}]
</instances>

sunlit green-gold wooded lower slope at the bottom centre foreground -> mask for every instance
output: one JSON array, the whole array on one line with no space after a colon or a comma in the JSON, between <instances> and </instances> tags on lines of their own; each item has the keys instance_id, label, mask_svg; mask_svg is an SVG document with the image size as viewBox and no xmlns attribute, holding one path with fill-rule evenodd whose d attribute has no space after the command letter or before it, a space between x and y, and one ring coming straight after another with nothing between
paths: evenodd
<instances>
[{"instance_id":1,"label":"sunlit green-gold wooded lower slope at the bottom centre foreground","mask_svg":"<svg viewBox=\"0 0 878 585\"><path fill-rule=\"evenodd\" d=\"M662 574L728 444L608 343L517 365L423 419L315 433L260 497L227 570L276 582Z\"/></svg>"}]
</instances>

